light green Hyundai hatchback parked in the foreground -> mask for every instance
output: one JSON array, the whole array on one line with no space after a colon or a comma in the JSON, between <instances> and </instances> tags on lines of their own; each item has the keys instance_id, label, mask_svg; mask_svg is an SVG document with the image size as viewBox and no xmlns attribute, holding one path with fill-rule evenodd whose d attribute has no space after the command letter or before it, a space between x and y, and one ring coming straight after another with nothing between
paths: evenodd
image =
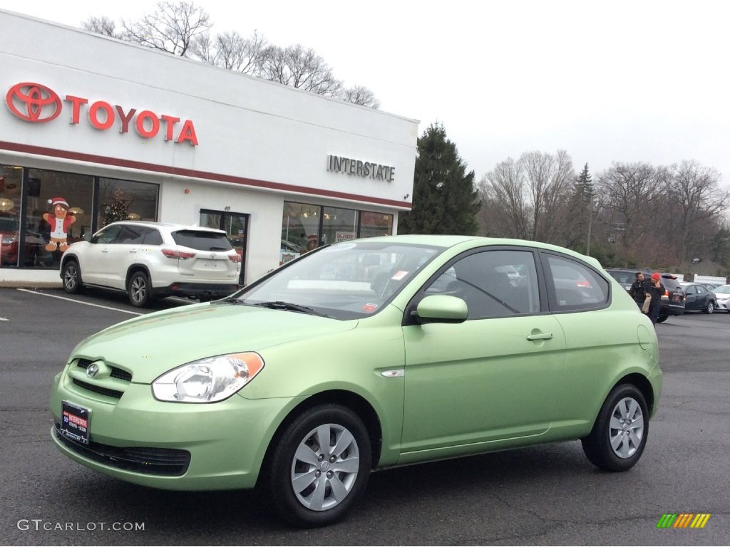
<instances>
[{"instance_id":1,"label":"light green Hyundai hatchback parked in the foreground","mask_svg":"<svg viewBox=\"0 0 730 547\"><path fill-rule=\"evenodd\" d=\"M660 390L654 327L596 260L388 236L86 338L55 376L51 435L123 481L257 487L306 527L395 465L580 440L593 465L628 470Z\"/></svg>"}]
</instances>

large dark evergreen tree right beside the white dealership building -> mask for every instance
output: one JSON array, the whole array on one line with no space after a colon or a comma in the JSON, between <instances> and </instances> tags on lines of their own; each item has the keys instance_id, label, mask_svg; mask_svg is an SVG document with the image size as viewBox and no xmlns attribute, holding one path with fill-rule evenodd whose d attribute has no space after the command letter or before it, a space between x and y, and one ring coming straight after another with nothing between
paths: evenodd
<instances>
[{"instance_id":1,"label":"large dark evergreen tree right beside the white dealership building","mask_svg":"<svg viewBox=\"0 0 730 547\"><path fill-rule=\"evenodd\" d=\"M399 215L398 233L474 235L479 209L474 171L466 174L466 164L443 126L431 124L418 139L413 209Z\"/></svg>"}]
</instances>

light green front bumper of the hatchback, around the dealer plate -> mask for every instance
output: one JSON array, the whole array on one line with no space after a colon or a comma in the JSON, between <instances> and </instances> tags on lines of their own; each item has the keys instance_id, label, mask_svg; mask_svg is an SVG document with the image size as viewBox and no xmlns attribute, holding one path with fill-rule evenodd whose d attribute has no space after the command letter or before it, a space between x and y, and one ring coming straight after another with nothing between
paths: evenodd
<instances>
[{"instance_id":1,"label":"light green front bumper of the hatchback, around the dealer plate","mask_svg":"<svg viewBox=\"0 0 730 547\"><path fill-rule=\"evenodd\" d=\"M89 445L61 437L61 402L88 408ZM51 438L67 457L99 473L170 490L253 488L278 424L299 401L250 400L164 403L147 384L128 384L112 397L55 377Z\"/></svg>"}]
</instances>

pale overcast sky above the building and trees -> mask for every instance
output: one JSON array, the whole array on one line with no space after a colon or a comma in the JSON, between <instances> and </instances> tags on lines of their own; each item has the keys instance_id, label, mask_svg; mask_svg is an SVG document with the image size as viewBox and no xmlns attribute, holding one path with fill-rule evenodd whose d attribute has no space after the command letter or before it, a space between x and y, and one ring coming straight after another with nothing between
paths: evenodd
<instances>
[{"instance_id":1,"label":"pale overcast sky above the building and trees","mask_svg":"<svg viewBox=\"0 0 730 547\"><path fill-rule=\"evenodd\" d=\"M477 182L523 152L566 150L576 171L697 160L730 185L728 1L196 1L214 34L302 44L380 109L442 123ZM0 0L80 26L153 1ZM0 34L0 40L2 39Z\"/></svg>"}]
</instances>

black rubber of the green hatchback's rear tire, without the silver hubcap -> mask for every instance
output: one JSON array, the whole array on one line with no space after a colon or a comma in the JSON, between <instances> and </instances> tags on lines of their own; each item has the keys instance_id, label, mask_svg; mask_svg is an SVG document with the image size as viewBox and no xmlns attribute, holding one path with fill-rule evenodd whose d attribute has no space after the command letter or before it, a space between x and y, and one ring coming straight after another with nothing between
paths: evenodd
<instances>
[{"instance_id":1,"label":"black rubber of the green hatchback's rear tire, without the silver hubcap","mask_svg":"<svg viewBox=\"0 0 730 547\"><path fill-rule=\"evenodd\" d=\"M610 420L613 409L618 401L630 397L639 403L644 419L644 432L641 444L637 451L628 458L618 457L612 449L610 443ZM612 472L626 471L634 467L641 458L646 447L649 436L649 411L646 400L642 392L633 384L621 384L611 390L608 397L601 407L596 423L593 424L593 430L588 437L583 439L583 450L586 457L599 468Z\"/></svg>"}]
</instances>

